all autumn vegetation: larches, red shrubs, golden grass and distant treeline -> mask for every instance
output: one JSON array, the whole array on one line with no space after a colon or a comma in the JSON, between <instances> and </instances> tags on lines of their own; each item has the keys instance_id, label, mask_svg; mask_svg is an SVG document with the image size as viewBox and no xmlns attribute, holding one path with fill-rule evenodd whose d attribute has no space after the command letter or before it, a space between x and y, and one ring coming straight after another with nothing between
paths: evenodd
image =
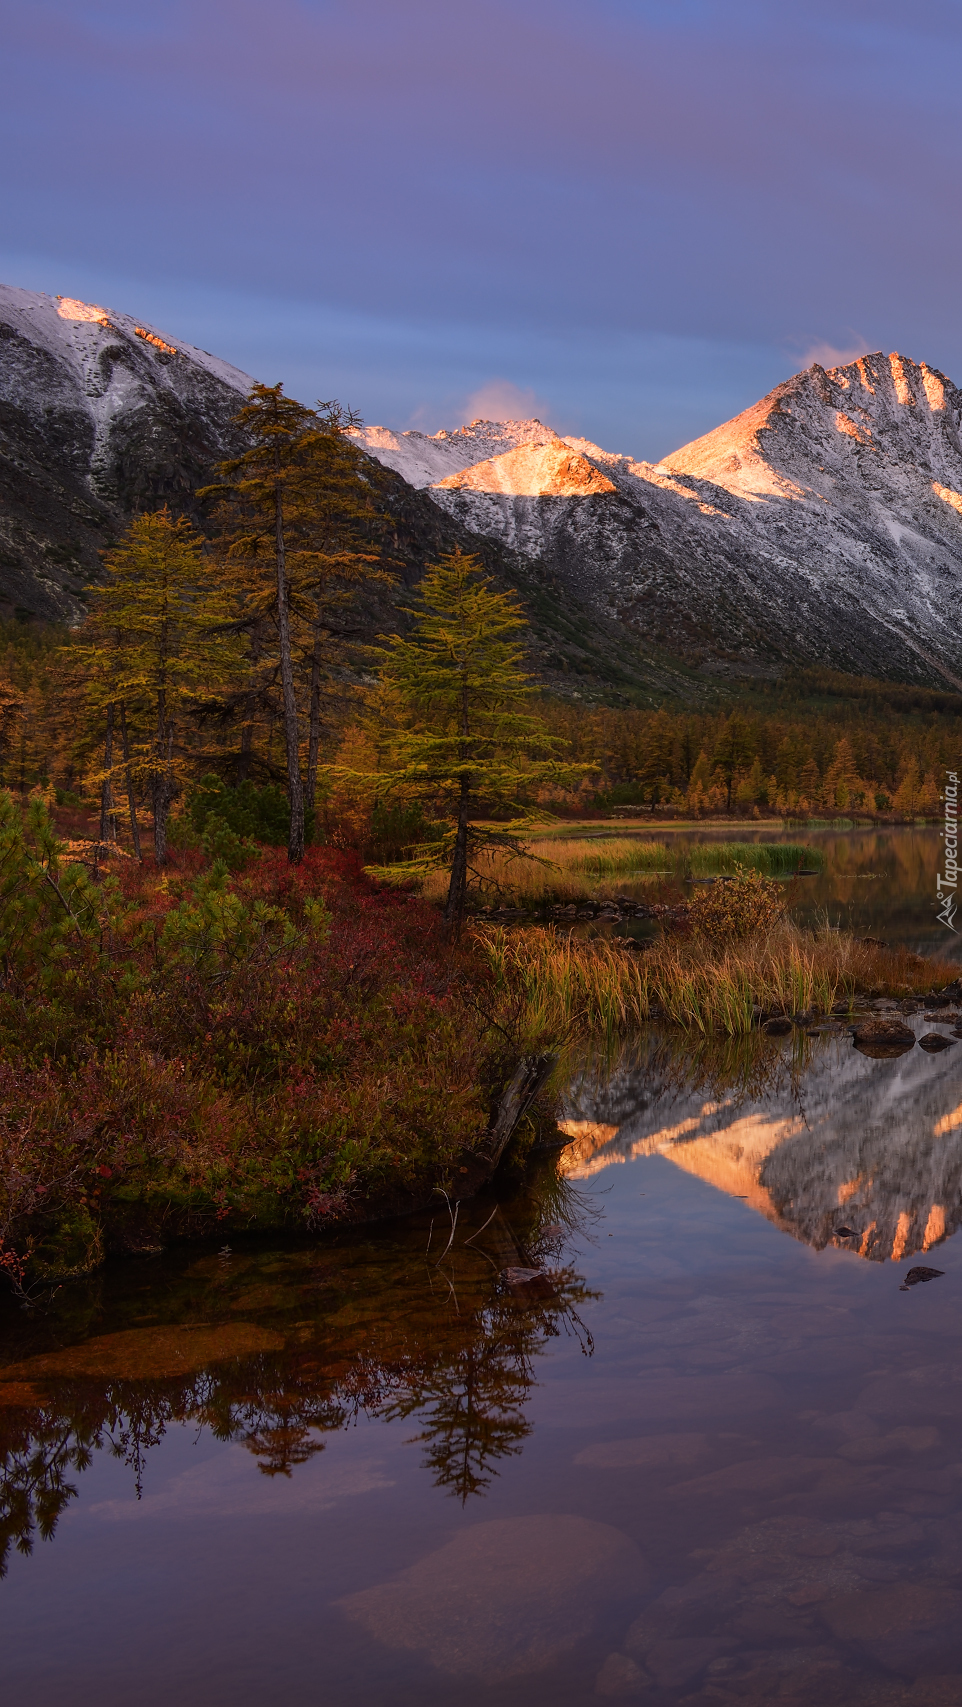
<instances>
[{"instance_id":1,"label":"all autumn vegetation: larches, red shrubs, golden grass and distant treeline","mask_svg":"<svg viewBox=\"0 0 962 1707\"><path fill-rule=\"evenodd\" d=\"M351 422L254 386L203 527L136 516L82 623L0 633L0 1268L24 1297L111 1250L471 1195L512 1133L520 1161L554 1132L548 1069L590 1034L945 982L805 939L759 872L675 906L643 964L466 929L472 874L546 816L935 816L962 698L819 671L698 708L551 696L478 560L399 574Z\"/></svg>"}]
</instances>

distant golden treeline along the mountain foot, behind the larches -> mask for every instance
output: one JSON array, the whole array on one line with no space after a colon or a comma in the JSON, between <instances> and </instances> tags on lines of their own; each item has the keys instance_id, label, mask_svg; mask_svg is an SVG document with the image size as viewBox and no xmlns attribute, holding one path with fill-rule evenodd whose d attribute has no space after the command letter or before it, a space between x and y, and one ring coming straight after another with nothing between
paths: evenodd
<instances>
[{"instance_id":1,"label":"distant golden treeline along the mountain foot, behind the larches","mask_svg":"<svg viewBox=\"0 0 962 1707\"><path fill-rule=\"evenodd\" d=\"M0 787L20 795L53 787L70 804L92 804L102 737L96 722L78 715L65 667L73 647L82 647L82 630L0 625ZM363 743L346 685L338 705L327 703L331 710L321 765ZM645 806L696 818L933 818L945 770L962 760L962 695L829 671L752 688L739 707L711 712L587 708L554 698L542 698L539 710L570 744L570 760L585 766L580 785L537 790L537 802L561 816ZM251 732L244 739L246 729L252 741ZM215 770L225 782L240 780L234 772L242 761L246 777L275 790L283 784L280 695L266 685L254 715L240 693L200 703L181 741L196 778ZM372 828L363 801L326 797L319 789L317 813L322 835L326 824L336 840L346 835L368 847L380 840L382 807L374 807ZM404 826L406 835L413 830Z\"/></svg>"}]
</instances>

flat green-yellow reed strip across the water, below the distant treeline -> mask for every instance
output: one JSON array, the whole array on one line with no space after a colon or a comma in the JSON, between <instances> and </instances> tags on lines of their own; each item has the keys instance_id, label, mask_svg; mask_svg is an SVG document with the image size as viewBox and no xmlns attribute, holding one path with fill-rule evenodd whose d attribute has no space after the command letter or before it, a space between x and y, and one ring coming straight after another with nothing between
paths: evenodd
<instances>
[{"instance_id":1,"label":"flat green-yellow reed strip across the water, below the distant treeline","mask_svg":"<svg viewBox=\"0 0 962 1707\"><path fill-rule=\"evenodd\" d=\"M739 865L766 877L788 876L798 867L819 867L815 848L788 842L703 842L667 847L664 842L638 842L633 836L570 840L542 836L529 843L530 859L510 859L501 848L478 857L472 893L484 901L513 901L520 906L546 906L553 901L606 900L617 888L652 877L732 872ZM389 877L389 869L377 869ZM447 893L447 874L428 872L421 893L440 903Z\"/></svg>"}]
</instances>

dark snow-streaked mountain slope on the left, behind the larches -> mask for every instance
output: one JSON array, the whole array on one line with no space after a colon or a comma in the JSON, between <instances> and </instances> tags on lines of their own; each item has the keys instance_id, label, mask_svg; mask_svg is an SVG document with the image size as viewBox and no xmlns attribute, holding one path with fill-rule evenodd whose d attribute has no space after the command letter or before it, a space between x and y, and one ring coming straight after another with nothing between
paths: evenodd
<instances>
[{"instance_id":1,"label":"dark snow-streaked mountain slope on the left, behind the larches","mask_svg":"<svg viewBox=\"0 0 962 1707\"><path fill-rule=\"evenodd\" d=\"M75 620L138 509L193 509L251 381L152 326L0 285L0 611Z\"/></svg>"}]
</instances>

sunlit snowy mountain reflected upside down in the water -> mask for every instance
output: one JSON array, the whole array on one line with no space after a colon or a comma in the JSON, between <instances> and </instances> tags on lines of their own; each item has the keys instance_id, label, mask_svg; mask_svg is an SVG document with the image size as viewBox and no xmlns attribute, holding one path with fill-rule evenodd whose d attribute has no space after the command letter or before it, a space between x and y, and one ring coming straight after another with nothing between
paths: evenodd
<instances>
[{"instance_id":1,"label":"sunlit snowy mountain reflected upside down in the water","mask_svg":"<svg viewBox=\"0 0 962 1707\"><path fill-rule=\"evenodd\" d=\"M921 1036L931 1016L906 1024ZM872 1060L839 1028L691 1058L650 1034L570 1091L563 1168L585 1180L665 1156L815 1250L901 1261L962 1221L960 1057L962 1046Z\"/></svg>"}]
</instances>

